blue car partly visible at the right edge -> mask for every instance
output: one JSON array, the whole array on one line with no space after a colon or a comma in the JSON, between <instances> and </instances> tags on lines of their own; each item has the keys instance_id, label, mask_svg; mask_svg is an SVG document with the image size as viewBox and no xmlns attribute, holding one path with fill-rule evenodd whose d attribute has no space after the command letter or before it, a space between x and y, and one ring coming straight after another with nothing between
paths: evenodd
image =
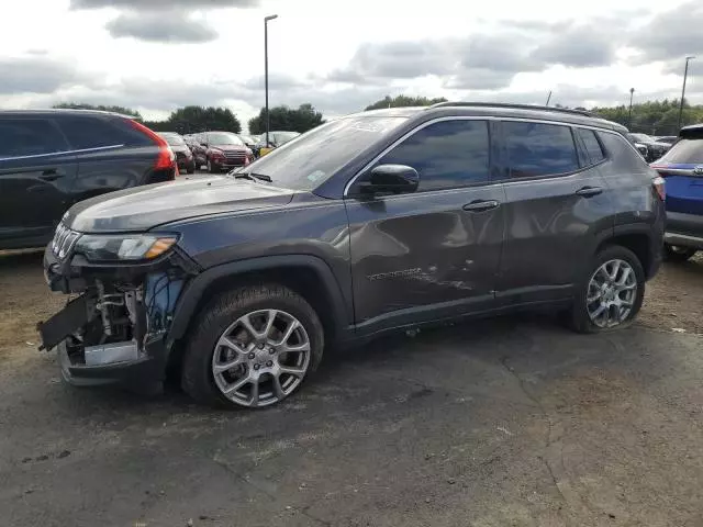
<instances>
[{"instance_id":1,"label":"blue car partly visible at the right edge","mask_svg":"<svg viewBox=\"0 0 703 527\"><path fill-rule=\"evenodd\" d=\"M666 180L665 256L688 260L703 250L703 124L681 128L679 139L651 168Z\"/></svg>"}]
</instances>

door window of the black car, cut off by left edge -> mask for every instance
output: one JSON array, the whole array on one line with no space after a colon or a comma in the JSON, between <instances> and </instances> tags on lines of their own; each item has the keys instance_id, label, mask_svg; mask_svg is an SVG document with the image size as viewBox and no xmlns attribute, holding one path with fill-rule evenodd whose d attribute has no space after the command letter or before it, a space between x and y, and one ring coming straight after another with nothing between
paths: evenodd
<instances>
[{"instance_id":1,"label":"door window of the black car, cut off by left edge","mask_svg":"<svg viewBox=\"0 0 703 527\"><path fill-rule=\"evenodd\" d=\"M58 128L47 119L0 120L0 159L68 150Z\"/></svg>"}]
</instances>

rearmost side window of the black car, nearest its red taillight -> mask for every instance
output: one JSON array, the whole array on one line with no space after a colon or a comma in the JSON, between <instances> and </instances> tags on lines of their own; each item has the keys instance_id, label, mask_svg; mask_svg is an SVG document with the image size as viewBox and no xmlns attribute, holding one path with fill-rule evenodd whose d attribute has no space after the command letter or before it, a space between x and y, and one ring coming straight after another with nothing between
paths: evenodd
<instances>
[{"instance_id":1,"label":"rearmost side window of the black car, nearest its red taillight","mask_svg":"<svg viewBox=\"0 0 703 527\"><path fill-rule=\"evenodd\" d=\"M127 120L120 117L64 116L59 125L76 150L154 144Z\"/></svg>"}]
</instances>

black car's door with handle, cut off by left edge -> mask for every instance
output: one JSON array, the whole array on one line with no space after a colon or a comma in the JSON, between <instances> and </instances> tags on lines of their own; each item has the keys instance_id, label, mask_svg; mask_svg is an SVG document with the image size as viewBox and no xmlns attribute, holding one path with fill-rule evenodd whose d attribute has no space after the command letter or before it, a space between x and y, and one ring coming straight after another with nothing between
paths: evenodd
<instances>
[{"instance_id":1,"label":"black car's door with handle, cut off by left edge","mask_svg":"<svg viewBox=\"0 0 703 527\"><path fill-rule=\"evenodd\" d=\"M70 206L76 155L48 117L0 117L0 248L46 244Z\"/></svg>"}]
</instances>

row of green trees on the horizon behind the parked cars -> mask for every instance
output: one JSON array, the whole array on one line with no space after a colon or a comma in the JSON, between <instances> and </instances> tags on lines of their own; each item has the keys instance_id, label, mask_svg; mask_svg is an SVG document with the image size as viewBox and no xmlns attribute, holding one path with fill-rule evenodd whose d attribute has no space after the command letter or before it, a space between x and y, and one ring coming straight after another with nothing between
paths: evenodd
<instances>
[{"instance_id":1,"label":"row of green trees on the horizon behind the parked cars","mask_svg":"<svg viewBox=\"0 0 703 527\"><path fill-rule=\"evenodd\" d=\"M438 102L446 102L445 98L410 97L410 96L387 96L372 104L366 106L368 110L400 106L427 106ZM558 108L560 104L555 104ZM183 106L170 113L163 121L145 121L138 111L125 106L115 105L93 105L85 103L62 103L54 108L76 108L104 110L110 112L131 115L142 121L146 126L156 132L178 132L181 134L192 134L207 132L209 130L220 130L242 132L242 123L228 108L219 106ZM579 110L585 110L579 106ZM665 99L662 101L647 101L633 104L632 116L629 106L621 104L610 108L591 108L591 112L615 121L627 126L633 132L640 132L651 135L676 135L678 133L677 122L679 117L679 100ZM324 123L321 112L316 111L310 103L301 104L298 108L287 105L274 106L269 114L270 128L290 132L308 132L309 130ZM681 119L682 126L688 124L703 123L703 105L691 105L684 101ZM266 131L266 110L261 109L259 114L248 121L250 134L263 134Z\"/></svg>"}]
</instances>

